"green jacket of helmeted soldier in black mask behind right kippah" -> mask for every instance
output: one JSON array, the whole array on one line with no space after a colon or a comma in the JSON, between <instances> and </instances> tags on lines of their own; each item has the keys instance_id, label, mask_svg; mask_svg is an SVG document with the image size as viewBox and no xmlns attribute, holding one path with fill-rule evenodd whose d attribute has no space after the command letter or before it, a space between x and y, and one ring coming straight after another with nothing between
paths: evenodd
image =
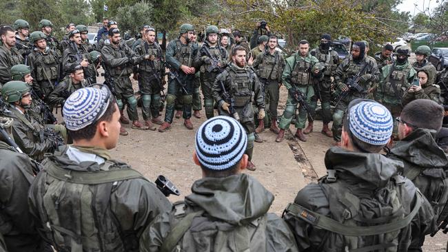
<instances>
[{"instance_id":1,"label":"green jacket of helmeted soldier in black mask behind right kippah","mask_svg":"<svg viewBox=\"0 0 448 252\"><path fill-rule=\"evenodd\" d=\"M416 74L416 70L408 62L404 65L385 65L381 71L376 100L389 105L400 105L403 94L411 86Z\"/></svg>"}]
</instances>

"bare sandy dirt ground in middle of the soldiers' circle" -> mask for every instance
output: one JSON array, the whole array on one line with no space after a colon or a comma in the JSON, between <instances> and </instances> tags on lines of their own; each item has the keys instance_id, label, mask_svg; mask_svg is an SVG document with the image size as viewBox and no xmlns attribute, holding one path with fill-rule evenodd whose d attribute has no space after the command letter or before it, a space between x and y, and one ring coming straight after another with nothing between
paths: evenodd
<instances>
[{"instance_id":1,"label":"bare sandy dirt ground in middle of the soldiers' circle","mask_svg":"<svg viewBox=\"0 0 448 252\"><path fill-rule=\"evenodd\" d=\"M138 90L135 82L134 87ZM283 113L286 98L287 90L281 87L279 114ZM201 169L192 160L194 134L205 121L205 112L202 111L201 114L201 119L192 118L194 130L185 128L182 118L174 118L172 129L164 133L141 131L124 125L130 134L120 136L118 146L112 150L112 156L128 162L149 180L154 181L158 175L169 178L181 191L181 196L170 196L170 201L182 200L190 194L192 183L201 178ZM162 115L164 116L164 111ZM143 120L140 108L139 116ZM294 125L290 129L294 134ZM265 129L260 134L265 141L255 143L253 161L257 169L245 172L254 176L274 194L271 211L279 216L286 205L294 200L298 190L326 174L324 156L333 140L320 134L320 129L322 122L316 121L314 132L307 135L306 143L299 143L290 132L287 132L282 143L276 143L276 134ZM448 235L442 232L438 232L434 238L428 236L423 251L445 251L447 239Z\"/></svg>"}]
</instances>

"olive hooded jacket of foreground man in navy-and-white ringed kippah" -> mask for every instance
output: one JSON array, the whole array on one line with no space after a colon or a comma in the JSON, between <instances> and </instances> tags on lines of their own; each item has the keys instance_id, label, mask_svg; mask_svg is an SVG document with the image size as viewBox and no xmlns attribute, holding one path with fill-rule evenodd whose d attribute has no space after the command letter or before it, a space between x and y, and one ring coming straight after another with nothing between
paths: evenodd
<instances>
[{"instance_id":1,"label":"olive hooded jacket of foreground man in navy-and-white ringed kippah","mask_svg":"<svg viewBox=\"0 0 448 252\"><path fill-rule=\"evenodd\" d=\"M298 251L285 222L267 213L273 200L272 193L247 174L196 180L184 202L174 203L171 211L145 229L140 249L160 251L167 235L183 220L176 210L183 204L185 214L203 213L192 220L173 251Z\"/></svg>"}]
</instances>

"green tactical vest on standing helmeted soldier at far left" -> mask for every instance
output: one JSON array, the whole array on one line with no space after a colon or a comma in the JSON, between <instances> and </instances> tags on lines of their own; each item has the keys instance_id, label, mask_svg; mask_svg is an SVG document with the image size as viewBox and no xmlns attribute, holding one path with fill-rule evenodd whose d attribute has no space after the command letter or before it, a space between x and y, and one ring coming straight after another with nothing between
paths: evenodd
<instances>
[{"instance_id":1,"label":"green tactical vest on standing helmeted soldier at far left","mask_svg":"<svg viewBox=\"0 0 448 252\"><path fill-rule=\"evenodd\" d=\"M46 54L35 51L34 55L36 56L34 62L36 64L34 66L36 68L36 81L48 81L48 78L50 78L50 81L56 80L59 74L59 62L56 53L53 50L48 50Z\"/></svg>"}]
</instances>

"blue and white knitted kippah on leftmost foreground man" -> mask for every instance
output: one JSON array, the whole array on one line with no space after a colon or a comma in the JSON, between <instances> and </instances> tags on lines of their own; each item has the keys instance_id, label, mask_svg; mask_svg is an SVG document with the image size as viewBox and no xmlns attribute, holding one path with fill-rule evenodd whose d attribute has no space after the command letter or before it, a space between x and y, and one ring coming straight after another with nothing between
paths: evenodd
<instances>
[{"instance_id":1,"label":"blue and white knitted kippah on leftmost foreground man","mask_svg":"<svg viewBox=\"0 0 448 252\"><path fill-rule=\"evenodd\" d=\"M65 127L76 131L91 125L103 116L109 102L107 90L84 87L73 92L63 107Z\"/></svg>"}]
</instances>

